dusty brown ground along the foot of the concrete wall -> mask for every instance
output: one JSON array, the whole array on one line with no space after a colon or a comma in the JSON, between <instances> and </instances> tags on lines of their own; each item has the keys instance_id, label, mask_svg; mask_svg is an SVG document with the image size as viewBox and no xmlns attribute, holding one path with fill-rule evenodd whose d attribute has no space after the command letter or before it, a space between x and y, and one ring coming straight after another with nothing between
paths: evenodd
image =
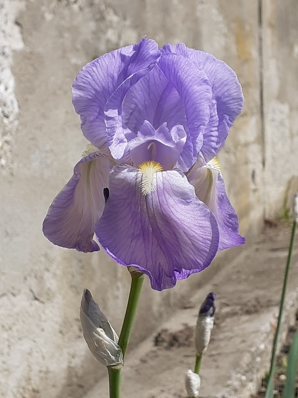
<instances>
[{"instance_id":1,"label":"dusty brown ground along the foot of the concrete wall","mask_svg":"<svg viewBox=\"0 0 298 398\"><path fill-rule=\"evenodd\" d=\"M200 397L244 398L255 394L269 367L290 232L285 223L267 222L255 244L244 248L194 297L185 298L172 318L131 351L125 363L123 397L186 397L184 375L193 369L195 361L194 325L200 303L210 291L216 292L218 303L210 346L202 360ZM297 286L296 243L283 339L295 322ZM107 396L104 379L85 397Z\"/></svg>"}]
</instances>

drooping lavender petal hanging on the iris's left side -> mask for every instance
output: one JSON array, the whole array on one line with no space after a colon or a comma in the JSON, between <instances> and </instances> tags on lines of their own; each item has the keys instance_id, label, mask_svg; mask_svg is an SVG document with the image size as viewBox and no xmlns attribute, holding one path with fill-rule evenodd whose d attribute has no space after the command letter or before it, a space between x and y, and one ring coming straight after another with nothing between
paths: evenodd
<instances>
[{"instance_id":1,"label":"drooping lavender petal hanging on the iris's left side","mask_svg":"<svg viewBox=\"0 0 298 398\"><path fill-rule=\"evenodd\" d=\"M99 250L92 239L105 205L103 190L113 163L93 152L74 167L74 175L51 204L43 222L44 235L55 245L82 252Z\"/></svg>"}]
</instances>

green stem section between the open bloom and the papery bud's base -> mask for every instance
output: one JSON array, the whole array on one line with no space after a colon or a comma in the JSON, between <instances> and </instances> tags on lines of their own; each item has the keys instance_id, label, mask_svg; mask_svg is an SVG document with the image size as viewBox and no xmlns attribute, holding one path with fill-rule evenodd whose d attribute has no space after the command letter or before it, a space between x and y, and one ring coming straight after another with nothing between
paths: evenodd
<instances>
[{"instance_id":1,"label":"green stem section between the open bloom and the papery bud's base","mask_svg":"<svg viewBox=\"0 0 298 398\"><path fill-rule=\"evenodd\" d=\"M141 290L144 282L144 274L141 274L139 272L132 272L131 276L132 276L132 284L129 292L129 298L123 320L123 325L118 341L118 345L121 347L123 352L123 357L126 354L129 339L132 334L133 324L135 321L137 308L139 304L139 298L141 295Z\"/></svg>"}]
</instances>

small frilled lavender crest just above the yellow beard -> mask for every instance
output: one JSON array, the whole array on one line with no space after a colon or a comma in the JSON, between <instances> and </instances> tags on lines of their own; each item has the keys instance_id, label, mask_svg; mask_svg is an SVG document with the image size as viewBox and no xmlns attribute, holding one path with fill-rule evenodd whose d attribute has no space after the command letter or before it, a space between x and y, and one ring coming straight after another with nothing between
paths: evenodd
<instances>
[{"instance_id":1,"label":"small frilled lavender crest just above the yellow beard","mask_svg":"<svg viewBox=\"0 0 298 398\"><path fill-rule=\"evenodd\" d=\"M145 120L136 138L129 141L131 159L136 167L149 160L160 163L163 170L171 169L185 144L183 126L174 126L171 131L163 123L155 131Z\"/></svg>"}]
</instances>

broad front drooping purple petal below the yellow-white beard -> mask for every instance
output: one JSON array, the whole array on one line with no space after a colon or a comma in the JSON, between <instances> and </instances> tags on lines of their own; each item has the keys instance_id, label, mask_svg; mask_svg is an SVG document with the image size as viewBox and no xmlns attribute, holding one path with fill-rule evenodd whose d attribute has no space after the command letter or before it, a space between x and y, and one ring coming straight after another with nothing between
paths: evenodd
<instances>
[{"instance_id":1,"label":"broad front drooping purple petal below the yellow-white beard","mask_svg":"<svg viewBox=\"0 0 298 398\"><path fill-rule=\"evenodd\" d=\"M141 192L143 177L124 165L111 171L110 196L95 232L118 264L138 268L153 289L163 290L211 263L219 231L213 213L179 171L156 172L148 195Z\"/></svg>"}]
</instances>

